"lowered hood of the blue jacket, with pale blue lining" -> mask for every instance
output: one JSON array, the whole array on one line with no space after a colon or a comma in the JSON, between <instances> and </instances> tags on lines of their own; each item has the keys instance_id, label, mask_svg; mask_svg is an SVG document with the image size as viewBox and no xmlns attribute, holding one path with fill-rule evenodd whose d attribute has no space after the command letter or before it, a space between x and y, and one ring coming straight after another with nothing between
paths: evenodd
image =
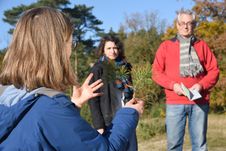
<instances>
[{"instance_id":1,"label":"lowered hood of the blue jacket, with pale blue lining","mask_svg":"<svg viewBox=\"0 0 226 151\"><path fill-rule=\"evenodd\" d=\"M0 143L37 100L34 95L37 90L28 92L14 86L0 86Z\"/></svg>"}]
</instances>

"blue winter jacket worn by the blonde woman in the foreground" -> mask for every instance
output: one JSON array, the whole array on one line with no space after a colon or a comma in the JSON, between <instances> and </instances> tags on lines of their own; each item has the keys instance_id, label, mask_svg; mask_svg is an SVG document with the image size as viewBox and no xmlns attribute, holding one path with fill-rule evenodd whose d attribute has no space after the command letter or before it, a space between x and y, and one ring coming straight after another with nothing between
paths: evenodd
<instances>
[{"instance_id":1,"label":"blue winter jacket worn by the blonde woman in the foreground","mask_svg":"<svg viewBox=\"0 0 226 151\"><path fill-rule=\"evenodd\" d=\"M63 93L2 87L0 151L121 151L138 122L136 110L122 108L100 135Z\"/></svg>"}]
</instances>

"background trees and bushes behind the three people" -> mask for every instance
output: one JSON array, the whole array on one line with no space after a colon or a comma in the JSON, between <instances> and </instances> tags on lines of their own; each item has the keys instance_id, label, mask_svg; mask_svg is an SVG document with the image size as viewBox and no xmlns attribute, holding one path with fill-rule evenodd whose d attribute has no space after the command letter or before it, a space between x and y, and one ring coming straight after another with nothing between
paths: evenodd
<instances>
[{"instance_id":1,"label":"background trees and bushes behind the three people","mask_svg":"<svg viewBox=\"0 0 226 151\"><path fill-rule=\"evenodd\" d=\"M110 30L109 33L104 33L99 28L102 21L92 14L93 7L86 7L85 5L69 7L69 4L68 0L39 0L28 6L20 5L5 11L4 21L14 27L24 10L38 6L50 6L65 12L74 23L75 32L73 39L76 47L73 49L71 61L79 81L84 80L91 65L96 60L95 43L105 34L117 35L124 43L128 61L133 65L132 76L136 97L142 98L146 102L145 114L137 130L139 141L149 140L165 133L165 96L162 88L151 79L151 64L159 44L163 40L175 36L175 23L171 27L166 27L165 21L159 20L157 13L133 13L125 17L125 22L118 31ZM197 37L204 39L208 43L217 57L220 68L219 82L211 90L211 112L225 114L226 1L197 0L193 10L198 15L195 33ZM13 28L10 29L9 33L12 32ZM89 38L85 37L87 33L91 35ZM1 50L0 60L3 59L6 49ZM70 95L70 91L68 92ZM81 110L81 114L88 122L91 121L87 105ZM216 138L215 141L217 142L219 139ZM159 145L162 144L160 143Z\"/></svg>"}]
</instances>

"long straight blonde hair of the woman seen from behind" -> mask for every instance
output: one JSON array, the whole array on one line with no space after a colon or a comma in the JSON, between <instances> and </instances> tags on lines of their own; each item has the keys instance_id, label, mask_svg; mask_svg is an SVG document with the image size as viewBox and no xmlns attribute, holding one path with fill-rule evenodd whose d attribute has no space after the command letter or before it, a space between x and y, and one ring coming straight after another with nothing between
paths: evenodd
<instances>
[{"instance_id":1,"label":"long straight blonde hair of the woman seen from behind","mask_svg":"<svg viewBox=\"0 0 226 151\"><path fill-rule=\"evenodd\" d=\"M4 57L0 83L60 91L77 85L66 52L72 32L70 20L56 9L39 7L24 12Z\"/></svg>"}]
</instances>

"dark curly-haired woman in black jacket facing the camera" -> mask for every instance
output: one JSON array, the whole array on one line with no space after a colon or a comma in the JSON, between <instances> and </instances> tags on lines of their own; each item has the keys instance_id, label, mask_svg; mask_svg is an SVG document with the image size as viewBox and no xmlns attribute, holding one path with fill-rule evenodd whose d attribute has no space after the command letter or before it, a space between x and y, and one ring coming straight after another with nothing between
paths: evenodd
<instances>
[{"instance_id":1,"label":"dark curly-haired woman in black jacket facing the camera","mask_svg":"<svg viewBox=\"0 0 226 151\"><path fill-rule=\"evenodd\" d=\"M99 60L91 69L91 82L102 79L104 86L97 92L102 96L89 101L94 128L104 133L117 110L133 98L131 64L126 61L123 44L115 36L105 36L98 46ZM135 131L132 139L128 140L127 151L137 150Z\"/></svg>"}]
</instances>

